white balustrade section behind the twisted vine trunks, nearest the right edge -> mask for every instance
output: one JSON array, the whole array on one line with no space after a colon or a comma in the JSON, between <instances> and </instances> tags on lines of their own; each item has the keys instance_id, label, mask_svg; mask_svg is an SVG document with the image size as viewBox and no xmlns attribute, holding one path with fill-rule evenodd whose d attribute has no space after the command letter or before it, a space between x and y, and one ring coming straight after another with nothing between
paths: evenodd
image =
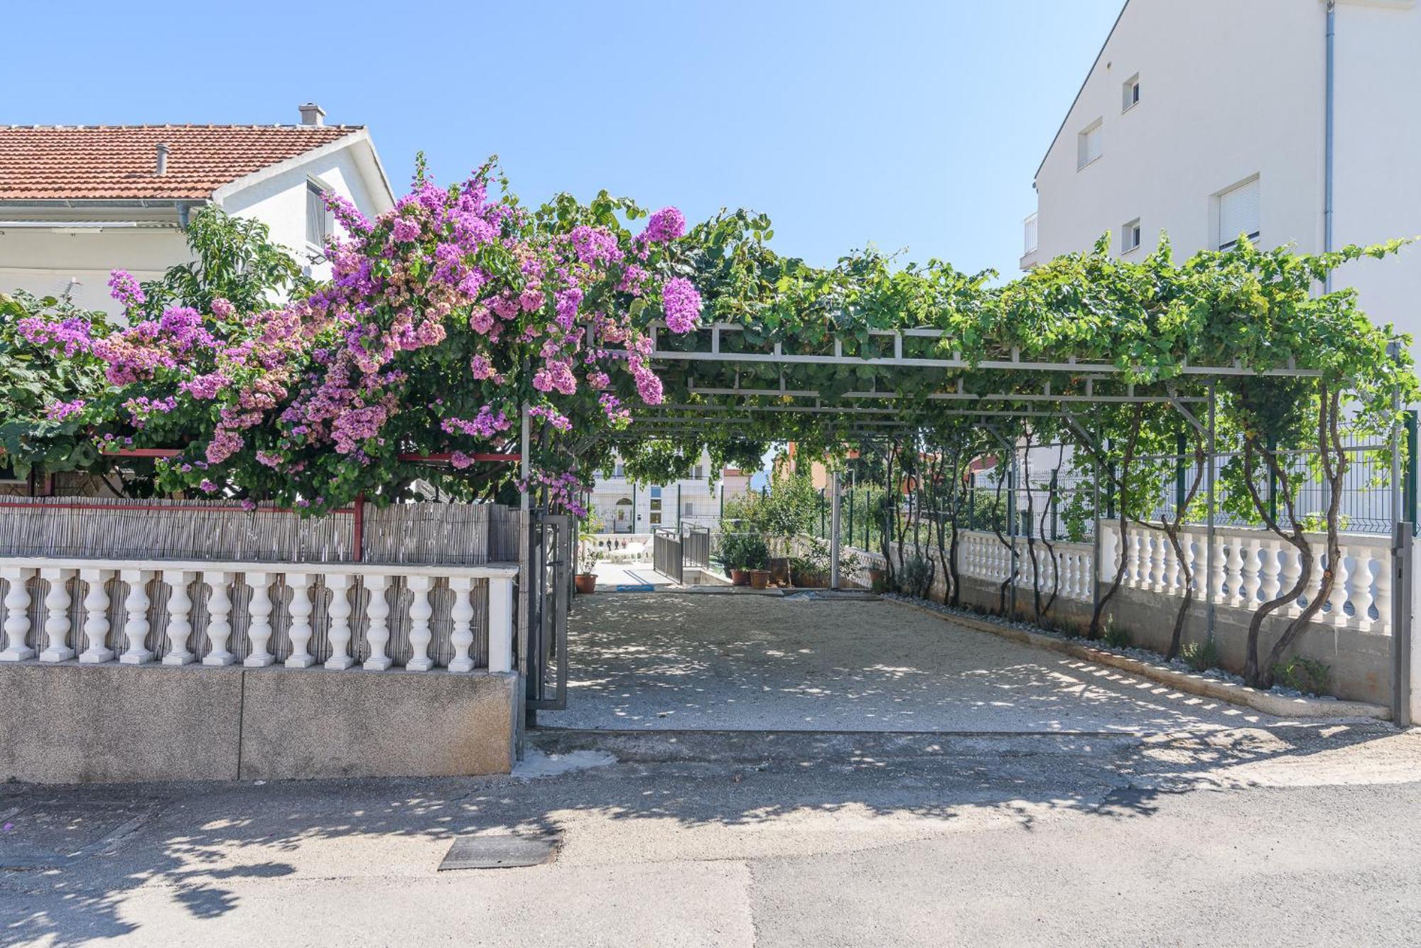
<instances>
[{"instance_id":1,"label":"white balustrade section behind the twisted vine trunks, nearest the right edge","mask_svg":"<svg viewBox=\"0 0 1421 948\"><path fill-rule=\"evenodd\" d=\"M1111 582L1121 559L1125 563L1121 586L1171 596L1182 596L1185 576L1199 602L1205 600L1205 580L1209 595L1221 606L1256 609L1292 589L1302 575L1302 556L1296 546L1276 534L1260 529L1218 528L1214 536L1214 565L1209 571L1208 532L1189 527L1181 531L1184 556L1175 552L1169 538L1158 529L1131 525L1125 542L1120 542L1120 525L1101 525L1101 582ZM1309 586L1317 582L1327 565L1326 536L1309 534L1312 573ZM1337 580L1322 613L1312 622L1363 632L1391 633L1391 544L1385 536L1343 534ZM1185 569L1188 566L1188 569ZM1307 606L1307 593L1277 610L1280 616L1296 616Z\"/></svg>"}]
</instances>

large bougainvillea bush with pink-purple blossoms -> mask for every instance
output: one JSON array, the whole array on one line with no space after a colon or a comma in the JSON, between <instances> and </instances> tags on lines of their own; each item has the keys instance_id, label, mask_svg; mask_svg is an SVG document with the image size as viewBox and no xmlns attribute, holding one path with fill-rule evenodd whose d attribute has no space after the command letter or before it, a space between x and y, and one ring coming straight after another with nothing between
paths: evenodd
<instances>
[{"instance_id":1,"label":"large bougainvillea bush with pink-purple blossoms","mask_svg":"<svg viewBox=\"0 0 1421 948\"><path fill-rule=\"evenodd\" d=\"M180 448L156 487L271 498L311 512L388 502L416 480L472 498L506 484L524 404L533 487L578 511L587 448L658 404L648 326L695 328L701 297L675 275L685 219L605 194L536 211L489 194L492 166L414 190L375 220L337 196L333 278L276 309L169 307L115 271L129 325L102 338L31 325L40 346L92 359L108 386L54 403L108 450ZM622 220L648 217L639 233ZM584 464L577 465L581 456Z\"/></svg>"}]
</instances>

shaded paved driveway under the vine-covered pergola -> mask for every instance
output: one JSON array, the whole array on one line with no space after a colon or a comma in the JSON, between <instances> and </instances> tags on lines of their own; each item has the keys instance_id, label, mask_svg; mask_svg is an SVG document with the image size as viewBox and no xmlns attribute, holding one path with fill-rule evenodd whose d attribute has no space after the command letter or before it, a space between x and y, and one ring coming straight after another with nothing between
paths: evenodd
<instances>
[{"instance_id":1,"label":"shaded paved driveway under the vine-covered pergola","mask_svg":"<svg viewBox=\"0 0 1421 948\"><path fill-rule=\"evenodd\" d=\"M1276 721L891 602L584 596L568 661L568 710L540 712L544 727L1131 734Z\"/></svg>"}]
</instances>

